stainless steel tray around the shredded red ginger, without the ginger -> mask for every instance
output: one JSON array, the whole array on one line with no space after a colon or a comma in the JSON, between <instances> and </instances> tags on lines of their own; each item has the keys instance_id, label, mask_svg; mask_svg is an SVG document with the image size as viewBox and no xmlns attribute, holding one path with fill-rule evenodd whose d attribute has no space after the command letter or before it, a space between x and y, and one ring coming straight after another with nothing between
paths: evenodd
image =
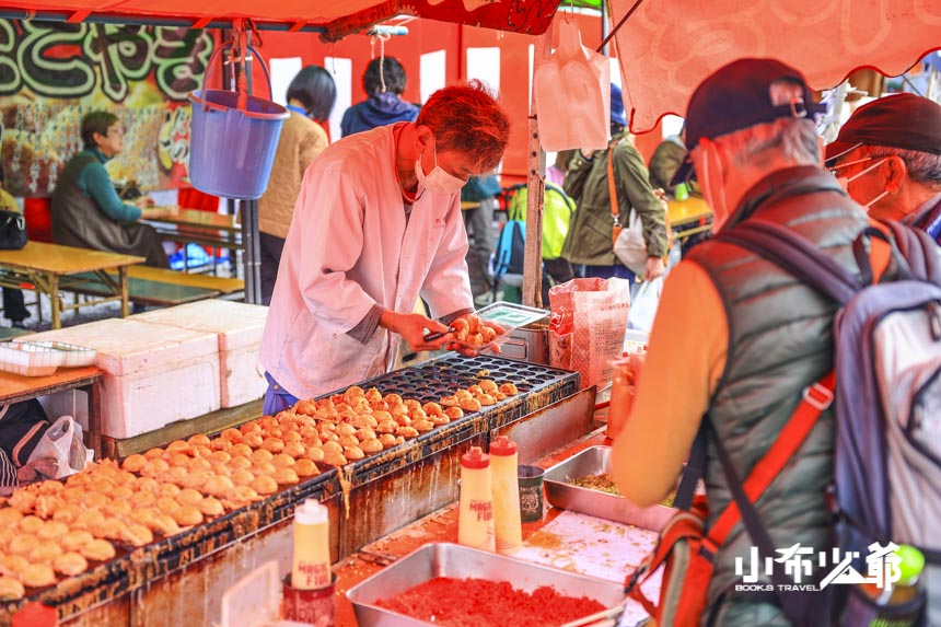
<instances>
[{"instance_id":1,"label":"stainless steel tray around the shredded red ginger, without the ginger","mask_svg":"<svg viewBox=\"0 0 941 627\"><path fill-rule=\"evenodd\" d=\"M541 585L551 585L560 594L588 596L608 608L603 615L593 615L592 619L586 617L562 627L601 623L603 618L619 614L624 604L624 590L614 581L527 564L457 544L433 543L410 553L347 591L347 599L352 603L359 627L434 625L379 607L375 602L395 596L435 577L509 581L513 588L526 592Z\"/></svg>"}]
</instances>

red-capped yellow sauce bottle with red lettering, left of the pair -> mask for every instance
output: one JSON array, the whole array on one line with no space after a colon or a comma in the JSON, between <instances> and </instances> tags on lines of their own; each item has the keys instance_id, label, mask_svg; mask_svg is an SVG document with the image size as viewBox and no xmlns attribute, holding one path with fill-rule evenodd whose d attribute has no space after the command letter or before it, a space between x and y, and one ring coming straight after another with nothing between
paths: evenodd
<instances>
[{"instance_id":1,"label":"red-capped yellow sauce bottle with red lettering, left of the pair","mask_svg":"<svg viewBox=\"0 0 941 627\"><path fill-rule=\"evenodd\" d=\"M480 446L461 456L461 512L457 518L457 543L492 551L493 494L490 456Z\"/></svg>"}]
</instances>

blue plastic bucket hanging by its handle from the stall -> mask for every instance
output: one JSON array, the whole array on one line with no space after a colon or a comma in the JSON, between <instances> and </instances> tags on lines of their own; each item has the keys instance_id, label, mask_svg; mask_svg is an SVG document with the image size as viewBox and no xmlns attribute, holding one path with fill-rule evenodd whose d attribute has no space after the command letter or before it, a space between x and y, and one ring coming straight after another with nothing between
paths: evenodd
<instances>
[{"instance_id":1,"label":"blue plastic bucket hanging by its handle from the stall","mask_svg":"<svg viewBox=\"0 0 941 627\"><path fill-rule=\"evenodd\" d=\"M224 48L212 55L213 59ZM253 50L254 51L254 50ZM260 57L256 57L260 60ZM265 76L268 69L262 68ZM207 67L207 73L211 67ZM204 80L205 80L204 76ZM268 82L270 95L270 80ZM189 181L214 196L251 200L268 187L271 163L278 149L281 126L288 109L270 100L247 96L239 108L239 93L226 90L196 90L190 120Z\"/></svg>"}]
</instances>

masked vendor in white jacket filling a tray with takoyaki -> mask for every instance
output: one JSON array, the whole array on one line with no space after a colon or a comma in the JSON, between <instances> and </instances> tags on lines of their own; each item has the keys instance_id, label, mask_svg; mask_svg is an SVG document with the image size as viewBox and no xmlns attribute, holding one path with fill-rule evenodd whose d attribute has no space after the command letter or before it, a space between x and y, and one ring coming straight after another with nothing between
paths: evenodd
<instances>
[{"instance_id":1,"label":"masked vendor in white jacket filling a tray with takoyaki","mask_svg":"<svg viewBox=\"0 0 941 627\"><path fill-rule=\"evenodd\" d=\"M262 339L265 414L387 372L399 338L413 351L453 339L423 337L474 311L461 187L497 166L509 136L506 112L473 81L311 164ZM419 295L434 320L410 313Z\"/></svg>"}]
</instances>

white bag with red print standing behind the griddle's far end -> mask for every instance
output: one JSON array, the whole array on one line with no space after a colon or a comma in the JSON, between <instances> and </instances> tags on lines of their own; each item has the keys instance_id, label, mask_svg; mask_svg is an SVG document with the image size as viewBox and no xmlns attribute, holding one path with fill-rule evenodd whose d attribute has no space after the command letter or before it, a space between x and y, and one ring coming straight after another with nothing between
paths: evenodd
<instances>
[{"instance_id":1,"label":"white bag with red print standing behind the griddle's far end","mask_svg":"<svg viewBox=\"0 0 941 627\"><path fill-rule=\"evenodd\" d=\"M582 388L611 381L630 306L630 281L572 279L549 290L549 363L578 370Z\"/></svg>"}]
</instances>

